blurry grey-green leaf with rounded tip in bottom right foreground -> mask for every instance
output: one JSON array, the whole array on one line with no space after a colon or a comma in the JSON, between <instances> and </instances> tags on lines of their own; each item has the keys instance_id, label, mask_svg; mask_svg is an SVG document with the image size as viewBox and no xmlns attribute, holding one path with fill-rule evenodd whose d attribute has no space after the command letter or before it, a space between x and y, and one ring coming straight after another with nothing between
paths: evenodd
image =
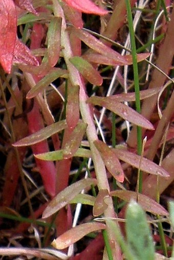
<instances>
[{"instance_id":1,"label":"blurry grey-green leaf with rounded tip in bottom right foreground","mask_svg":"<svg viewBox=\"0 0 174 260\"><path fill-rule=\"evenodd\" d=\"M126 234L130 251L141 260L154 260L155 250L145 213L141 206L132 201L126 211Z\"/></svg>"}]
</instances>

